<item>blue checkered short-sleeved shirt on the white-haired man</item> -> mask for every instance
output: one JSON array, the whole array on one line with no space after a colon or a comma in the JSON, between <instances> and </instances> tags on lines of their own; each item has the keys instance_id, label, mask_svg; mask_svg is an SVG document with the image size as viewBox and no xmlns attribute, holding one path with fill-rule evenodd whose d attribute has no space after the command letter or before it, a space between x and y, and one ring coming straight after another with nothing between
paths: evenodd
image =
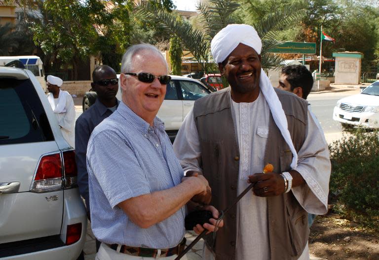
<instances>
[{"instance_id":1,"label":"blue checkered short-sleeved shirt on the white-haired man","mask_svg":"<svg viewBox=\"0 0 379 260\"><path fill-rule=\"evenodd\" d=\"M153 127L123 102L92 132L87 148L91 227L109 244L164 249L181 242L186 208L149 228L134 224L117 204L180 184L183 169L155 117Z\"/></svg>"}]
</instances>

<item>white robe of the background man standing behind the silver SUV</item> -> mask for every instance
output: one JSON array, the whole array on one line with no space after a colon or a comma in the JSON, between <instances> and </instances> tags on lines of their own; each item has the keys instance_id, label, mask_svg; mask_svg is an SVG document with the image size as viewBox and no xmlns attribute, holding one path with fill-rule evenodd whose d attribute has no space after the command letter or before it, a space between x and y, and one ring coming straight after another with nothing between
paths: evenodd
<instances>
[{"instance_id":1,"label":"white robe of the background man standing behind the silver SUV","mask_svg":"<svg viewBox=\"0 0 379 260\"><path fill-rule=\"evenodd\" d=\"M48 93L46 96L57 117L63 137L69 145L75 148L75 105L73 97L67 91L59 90L58 102L56 103L52 93Z\"/></svg>"}]
</instances>

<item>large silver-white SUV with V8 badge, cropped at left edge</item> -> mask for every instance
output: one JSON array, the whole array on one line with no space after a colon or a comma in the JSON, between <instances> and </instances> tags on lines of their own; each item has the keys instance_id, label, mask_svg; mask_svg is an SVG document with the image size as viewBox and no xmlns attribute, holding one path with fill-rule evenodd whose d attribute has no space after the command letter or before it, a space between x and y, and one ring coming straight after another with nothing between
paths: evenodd
<instances>
[{"instance_id":1,"label":"large silver-white SUV with V8 badge, cropped at left edge","mask_svg":"<svg viewBox=\"0 0 379 260\"><path fill-rule=\"evenodd\" d=\"M0 66L0 259L77 259L87 218L75 151L36 77Z\"/></svg>"}]
</instances>

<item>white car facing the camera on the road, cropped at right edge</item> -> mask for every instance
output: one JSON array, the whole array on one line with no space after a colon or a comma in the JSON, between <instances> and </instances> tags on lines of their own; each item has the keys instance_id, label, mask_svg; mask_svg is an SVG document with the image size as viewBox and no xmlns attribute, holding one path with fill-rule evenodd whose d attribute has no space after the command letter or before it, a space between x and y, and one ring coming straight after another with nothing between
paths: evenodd
<instances>
[{"instance_id":1,"label":"white car facing the camera on the road, cropped at right edge","mask_svg":"<svg viewBox=\"0 0 379 260\"><path fill-rule=\"evenodd\" d=\"M379 128L379 80L358 95L338 100L333 119L345 127Z\"/></svg>"}]
</instances>

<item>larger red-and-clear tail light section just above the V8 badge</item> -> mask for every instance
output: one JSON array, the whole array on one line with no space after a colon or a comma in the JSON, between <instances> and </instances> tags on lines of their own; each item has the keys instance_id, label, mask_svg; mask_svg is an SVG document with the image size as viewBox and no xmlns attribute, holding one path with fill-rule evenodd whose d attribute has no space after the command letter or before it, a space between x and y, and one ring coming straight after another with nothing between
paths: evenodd
<instances>
[{"instance_id":1,"label":"larger red-and-clear tail light section just above the V8 badge","mask_svg":"<svg viewBox=\"0 0 379 260\"><path fill-rule=\"evenodd\" d=\"M63 188L61 154L45 155L39 160L32 192L50 192Z\"/></svg>"}]
</instances>

